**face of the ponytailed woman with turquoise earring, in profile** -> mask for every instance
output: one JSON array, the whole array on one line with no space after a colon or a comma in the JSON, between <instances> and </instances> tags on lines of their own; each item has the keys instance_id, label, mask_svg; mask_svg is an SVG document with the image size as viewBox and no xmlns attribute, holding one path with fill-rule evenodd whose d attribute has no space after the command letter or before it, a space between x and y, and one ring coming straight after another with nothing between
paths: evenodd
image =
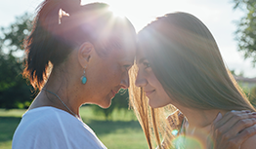
<instances>
[{"instance_id":1,"label":"face of the ponytailed woman with turquoise earring, in profile","mask_svg":"<svg viewBox=\"0 0 256 149\"><path fill-rule=\"evenodd\" d=\"M93 103L107 108L119 89L129 87L128 70L133 65L135 51L136 45L131 43L126 49L112 49L107 56L95 59L88 76Z\"/></svg>"}]
</instances>

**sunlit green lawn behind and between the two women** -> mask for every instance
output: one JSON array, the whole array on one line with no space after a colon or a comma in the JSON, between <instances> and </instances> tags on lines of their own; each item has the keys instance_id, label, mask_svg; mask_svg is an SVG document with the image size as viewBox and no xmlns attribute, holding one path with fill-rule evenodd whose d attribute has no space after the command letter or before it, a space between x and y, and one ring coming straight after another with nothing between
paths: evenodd
<instances>
[{"instance_id":1,"label":"sunlit green lawn behind and between the two women","mask_svg":"<svg viewBox=\"0 0 256 149\"><path fill-rule=\"evenodd\" d=\"M12 147L12 136L25 110L0 109L0 148ZM147 141L132 111L114 111L112 121L95 116L89 106L81 107L83 121L90 126L109 149L147 149Z\"/></svg>"}]
</instances>

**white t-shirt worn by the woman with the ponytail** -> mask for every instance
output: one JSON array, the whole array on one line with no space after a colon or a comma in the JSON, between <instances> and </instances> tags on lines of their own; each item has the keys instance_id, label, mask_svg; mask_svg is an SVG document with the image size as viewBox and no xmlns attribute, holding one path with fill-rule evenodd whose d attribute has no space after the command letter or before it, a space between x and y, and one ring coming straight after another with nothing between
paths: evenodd
<instances>
[{"instance_id":1,"label":"white t-shirt worn by the woman with the ponytail","mask_svg":"<svg viewBox=\"0 0 256 149\"><path fill-rule=\"evenodd\" d=\"M13 149L107 149L86 124L50 106L22 116L12 145Z\"/></svg>"}]
</instances>

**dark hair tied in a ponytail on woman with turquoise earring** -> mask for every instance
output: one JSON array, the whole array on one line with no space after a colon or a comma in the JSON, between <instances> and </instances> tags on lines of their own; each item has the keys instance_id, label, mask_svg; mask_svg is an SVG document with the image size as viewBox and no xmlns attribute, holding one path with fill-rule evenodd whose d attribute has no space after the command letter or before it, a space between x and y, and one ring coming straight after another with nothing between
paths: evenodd
<instances>
[{"instance_id":1,"label":"dark hair tied in a ponytail on woman with turquoise earring","mask_svg":"<svg viewBox=\"0 0 256 149\"><path fill-rule=\"evenodd\" d=\"M91 42L100 56L135 42L136 32L126 18L118 18L105 3L80 5L80 0L45 0L38 7L33 30L25 41L23 76L41 89L49 72L64 63L84 42Z\"/></svg>"}]
</instances>

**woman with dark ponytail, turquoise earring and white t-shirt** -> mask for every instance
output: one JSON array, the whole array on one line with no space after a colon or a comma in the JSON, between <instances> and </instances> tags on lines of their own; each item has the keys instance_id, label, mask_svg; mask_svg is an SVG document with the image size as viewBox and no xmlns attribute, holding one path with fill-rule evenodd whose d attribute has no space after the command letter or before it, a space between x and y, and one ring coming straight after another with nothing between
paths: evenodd
<instances>
[{"instance_id":1,"label":"woman with dark ponytail, turquoise earring and white t-shirt","mask_svg":"<svg viewBox=\"0 0 256 149\"><path fill-rule=\"evenodd\" d=\"M107 108L128 88L136 32L105 3L45 0L26 40L23 75L40 91L13 137L13 149L106 148L84 124L79 107Z\"/></svg>"}]
</instances>

